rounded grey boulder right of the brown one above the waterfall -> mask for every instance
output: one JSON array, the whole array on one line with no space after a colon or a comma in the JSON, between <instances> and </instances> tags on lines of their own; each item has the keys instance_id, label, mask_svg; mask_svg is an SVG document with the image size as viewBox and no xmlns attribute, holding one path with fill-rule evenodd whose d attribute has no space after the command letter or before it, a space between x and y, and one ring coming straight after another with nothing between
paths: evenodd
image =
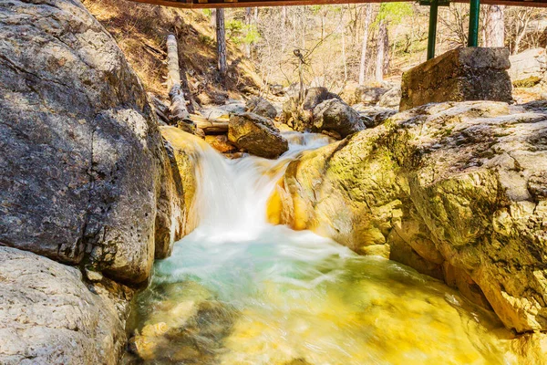
<instances>
[{"instance_id":1,"label":"rounded grey boulder right of the brown one above the waterfall","mask_svg":"<svg viewBox=\"0 0 547 365\"><path fill-rule=\"evenodd\" d=\"M314 130L334 131L342 138L365 129L359 113L340 99L328 99L314 109Z\"/></svg>"}]
</instances>

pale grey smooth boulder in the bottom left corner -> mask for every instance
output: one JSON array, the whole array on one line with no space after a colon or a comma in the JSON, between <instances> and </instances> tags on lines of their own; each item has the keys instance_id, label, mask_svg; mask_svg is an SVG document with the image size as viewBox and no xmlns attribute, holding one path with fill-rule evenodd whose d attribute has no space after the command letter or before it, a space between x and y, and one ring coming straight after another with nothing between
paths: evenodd
<instances>
[{"instance_id":1,"label":"pale grey smooth boulder in the bottom left corner","mask_svg":"<svg viewBox=\"0 0 547 365\"><path fill-rule=\"evenodd\" d=\"M116 364L126 341L120 301L94 290L74 267L0 247L0 363Z\"/></svg>"}]
</instances>

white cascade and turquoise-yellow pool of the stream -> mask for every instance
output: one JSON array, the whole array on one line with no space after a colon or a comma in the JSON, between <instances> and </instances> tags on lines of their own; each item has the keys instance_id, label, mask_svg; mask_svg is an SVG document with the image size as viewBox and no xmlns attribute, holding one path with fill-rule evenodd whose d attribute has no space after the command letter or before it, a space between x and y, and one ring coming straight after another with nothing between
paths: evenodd
<instances>
[{"instance_id":1,"label":"white cascade and turquoise-yellow pool of the stream","mask_svg":"<svg viewBox=\"0 0 547 365\"><path fill-rule=\"evenodd\" d=\"M511 334L439 281L266 223L274 184L329 142L286 133L277 161L197 148L199 226L157 261L126 364L513 364Z\"/></svg>"}]
</instances>

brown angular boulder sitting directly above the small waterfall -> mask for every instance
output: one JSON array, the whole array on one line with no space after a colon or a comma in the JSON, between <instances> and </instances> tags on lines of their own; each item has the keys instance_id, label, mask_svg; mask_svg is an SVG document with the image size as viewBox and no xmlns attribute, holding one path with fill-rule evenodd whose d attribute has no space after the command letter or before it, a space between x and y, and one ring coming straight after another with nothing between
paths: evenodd
<instances>
[{"instance_id":1,"label":"brown angular boulder sitting directly above the small waterfall","mask_svg":"<svg viewBox=\"0 0 547 365\"><path fill-rule=\"evenodd\" d=\"M289 149L274 122L253 113L230 117L228 139L240 149L267 159L275 159Z\"/></svg>"}]
</instances>

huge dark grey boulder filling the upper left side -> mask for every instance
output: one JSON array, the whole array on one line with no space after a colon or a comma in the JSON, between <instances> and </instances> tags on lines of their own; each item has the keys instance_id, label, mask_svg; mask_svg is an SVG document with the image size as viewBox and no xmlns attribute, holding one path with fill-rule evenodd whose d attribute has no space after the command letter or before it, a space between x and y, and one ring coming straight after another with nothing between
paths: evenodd
<instances>
[{"instance_id":1,"label":"huge dark grey boulder filling the upper left side","mask_svg":"<svg viewBox=\"0 0 547 365\"><path fill-rule=\"evenodd\" d=\"M76 0L0 1L0 243L137 283L163 151L139 79Z\"/></svg>"}]
</instances>

